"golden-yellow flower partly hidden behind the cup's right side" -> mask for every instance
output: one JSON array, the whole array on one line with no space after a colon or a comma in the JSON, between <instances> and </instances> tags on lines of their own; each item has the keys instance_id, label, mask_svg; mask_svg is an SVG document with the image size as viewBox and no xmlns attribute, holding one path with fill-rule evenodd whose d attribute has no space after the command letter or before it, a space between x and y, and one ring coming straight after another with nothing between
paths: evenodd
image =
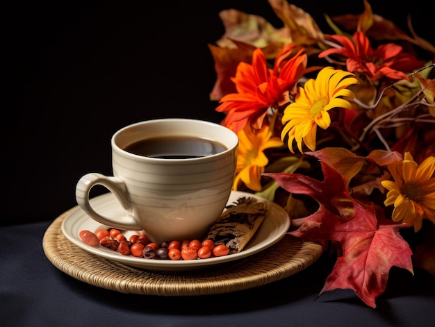
<instances>
[{"instance_id":1,"label":"golden-yellow flower partly hidden behind the cup's right side","mask_svg":"<svg viewBox=\"0 0 435 327\"><path fill-rule=\"evenodd\" d=\"M269 162L263 151L284 146L284 143L279 137L272 137L267 124L263 124L260 130L246 124L237 135L239 144L233 190L237 190L238 185L243 182L250 190L261 191L261 174Z\"/></svg>"}]
</instances>

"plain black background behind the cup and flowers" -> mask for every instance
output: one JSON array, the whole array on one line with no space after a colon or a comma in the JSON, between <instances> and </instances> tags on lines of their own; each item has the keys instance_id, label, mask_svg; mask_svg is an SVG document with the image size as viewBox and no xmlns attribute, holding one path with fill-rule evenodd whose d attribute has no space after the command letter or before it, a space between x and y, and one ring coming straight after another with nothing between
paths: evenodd
<instances>
[{"instance_id":1,"label":"plain black background behind the cup and flowers","mask_svg":"<svg viewBox=\"0 0 435 327\"><path fill-rule=\"evenodd\" d=\"M362 0L289 2L325 33L323 13L363 11ZM434 1L370 4L404 31L411 13L416 33L435 44ZM282 27L266 0L3 1L0 224L53 220L76 206L83 174L111 174L110 137L127 124L219 122L207 44L224 34L218 13L229 8Z\"/></svg>"}]
</instances>

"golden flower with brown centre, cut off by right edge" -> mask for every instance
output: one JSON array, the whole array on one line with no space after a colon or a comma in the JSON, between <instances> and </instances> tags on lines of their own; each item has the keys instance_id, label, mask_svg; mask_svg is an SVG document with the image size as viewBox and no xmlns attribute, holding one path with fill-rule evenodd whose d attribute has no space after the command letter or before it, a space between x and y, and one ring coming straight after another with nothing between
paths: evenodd
<instances>
[{"instance_id":1,"label":"golden flower with brown centre, cut off by right edge","mask_svg":"<svg viewBox=\"0 0 435 327\"><path fill-rule=\"evenodd\" d=\"M388 165L394 181L382 181L388 190L385 206L394 205L393 221L413 223L418 232L422 219L435 223L435 157L426 158L420 165L413 160L411 153L397 165Z\"/></svg>"}]
</instances>

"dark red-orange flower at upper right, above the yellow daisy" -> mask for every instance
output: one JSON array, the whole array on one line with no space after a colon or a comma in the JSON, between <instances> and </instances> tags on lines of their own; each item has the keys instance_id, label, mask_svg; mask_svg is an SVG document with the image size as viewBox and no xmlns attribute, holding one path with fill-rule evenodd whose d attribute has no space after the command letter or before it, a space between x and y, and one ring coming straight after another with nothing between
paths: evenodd
<instances>
[{"instance_id":1,"label":"dark red-orange flower at upper right, above the yellow daisy","mask_svg":"<svg viewBox=\"0 0 435 327\"><path fill-rule=\"evenodd\" d=\"M366 74L370 81L377 81L383 77L392 80L412 78L407 73L424 66L424 62L417 60L409 53L404 53L402 47L394 43L381 44L376 50L370 47L370 40L361 32L354 33L354 40L342 35L327 35L343 46L343 48L327 49L319 54L324 58L336 53L347 58L346 65L349 72Z\"/></svg>"}]
</instances>

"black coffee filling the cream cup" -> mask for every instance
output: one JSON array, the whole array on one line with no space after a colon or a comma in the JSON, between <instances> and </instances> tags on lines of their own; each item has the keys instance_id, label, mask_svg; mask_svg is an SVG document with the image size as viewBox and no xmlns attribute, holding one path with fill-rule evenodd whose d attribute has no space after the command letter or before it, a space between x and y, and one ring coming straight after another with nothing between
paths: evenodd
<instances>
[{"instance_id":1,"label":"black coffee filling the cream cup","mask_svg":"<svg viewBox=\"0 0 435 327\"><path fill-rule=\"evenodd\" d=\"M133 142L125 151L151 158L188 159L220 153L227 148L215 140L201 137L154 137Z\"/></svg>"}]
</instances>

